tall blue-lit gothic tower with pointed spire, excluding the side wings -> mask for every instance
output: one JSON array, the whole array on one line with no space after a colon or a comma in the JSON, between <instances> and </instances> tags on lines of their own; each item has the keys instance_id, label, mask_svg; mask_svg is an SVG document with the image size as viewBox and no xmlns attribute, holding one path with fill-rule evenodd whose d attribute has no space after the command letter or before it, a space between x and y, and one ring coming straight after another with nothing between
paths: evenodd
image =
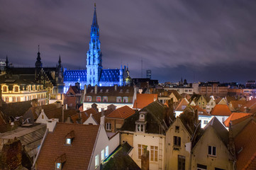
<instances>
[{"instance_id":1,"label":"tall blue-lit gothic tower with pointed spire, excluding the side wings","mask_svg":"<svg viewBox=\"0 0 256 170\"><path fill-rule=\"evenodd\" d=\"M87 84L94 86L99 83L101 74L101 42L99 40L99 26L96 16L96 4L94 4L94 18L91 24L91 40L87 52Z\"/></svg>"}]
</instances>

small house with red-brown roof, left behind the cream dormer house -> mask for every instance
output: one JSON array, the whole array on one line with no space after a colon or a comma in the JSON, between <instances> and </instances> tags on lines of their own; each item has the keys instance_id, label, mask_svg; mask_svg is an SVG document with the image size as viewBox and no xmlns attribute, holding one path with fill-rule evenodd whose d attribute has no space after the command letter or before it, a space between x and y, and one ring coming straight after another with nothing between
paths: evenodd
<instances>
[{"instance_id":1,"label":"small house with red-brown roof, left behind the cream dormer house","mask_svg":"<svg viewBox=\"0 0 256 170\"><path fill-rule=\"evenodd\" d=\"M135 111L128 106L117 108L116 111L106 115L105 127L108 132L117 132L123 126L124 121L133 115Z\"/></svg>"}]
</instances>

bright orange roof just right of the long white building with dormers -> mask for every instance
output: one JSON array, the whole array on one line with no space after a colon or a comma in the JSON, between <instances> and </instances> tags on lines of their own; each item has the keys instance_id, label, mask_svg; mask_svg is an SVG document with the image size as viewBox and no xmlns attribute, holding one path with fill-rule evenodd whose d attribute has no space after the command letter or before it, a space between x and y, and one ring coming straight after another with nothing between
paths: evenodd
<instances>
[{"instance_id":1,"label":"bright orange roof just right of the long white building with dormers","mask_svg":"<svg viewBox=\"0 0 256 170\"><path fill-rule=\"evenodd\" d=\"M157 100L157 94L137 94L137 99L133 103L133 108L144 108Z\"/></svg>"}]
</instances>

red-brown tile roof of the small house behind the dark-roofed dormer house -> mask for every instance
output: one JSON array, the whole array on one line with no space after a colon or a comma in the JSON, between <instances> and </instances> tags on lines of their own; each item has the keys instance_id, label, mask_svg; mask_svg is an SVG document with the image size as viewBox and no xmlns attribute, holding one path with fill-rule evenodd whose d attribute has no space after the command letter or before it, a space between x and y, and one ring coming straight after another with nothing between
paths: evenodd
<instances>
[{"instance_id":1,"label":"red-brown tile roof of the small house behind the dark-roofed dormer house","mask_svg":"<svg viewBox=\"0 0 256 170\"><path fill-rule=\"evenodd\" d=\"M109 115L107 115L106 118L126 119L126 118L129 118L134 113L135 113L135 111L132 108L129 108L128 106L123 106L121 108L116 109L116 111L113 111Z\"/></svg>"}]
</instances>

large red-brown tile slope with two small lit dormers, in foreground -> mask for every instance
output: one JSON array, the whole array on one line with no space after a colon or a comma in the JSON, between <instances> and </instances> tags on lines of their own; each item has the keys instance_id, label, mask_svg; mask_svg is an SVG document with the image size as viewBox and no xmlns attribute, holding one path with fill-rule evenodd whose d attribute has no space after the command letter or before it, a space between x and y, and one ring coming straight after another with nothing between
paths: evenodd
<instances>
[{"instance_id":1,"label":"large red-brown tile slope with two small lit dormers, in foreground","mask_svg":"<svg viewBox=\"0 0 256 170\"><path fill-rule=\"evenodd\" d=\"M74 131L72 145L65 145L65 137ZM36 169L55 169L55 160L65 155L62 169L88 169L96 142L99 125L57 123L54 132L48 135L40 149Z\"/></svg>"}]
</instances>

